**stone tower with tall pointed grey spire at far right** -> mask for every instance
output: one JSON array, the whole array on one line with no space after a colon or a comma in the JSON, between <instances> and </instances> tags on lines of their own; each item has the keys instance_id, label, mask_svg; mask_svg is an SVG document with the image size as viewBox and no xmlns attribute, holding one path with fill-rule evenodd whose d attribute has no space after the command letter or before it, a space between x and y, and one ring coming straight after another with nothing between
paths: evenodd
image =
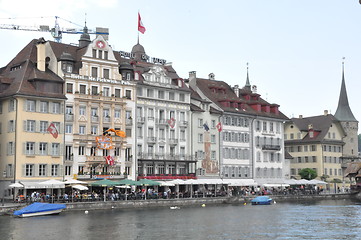
<instances>
[{"instance_id":1,"label":"stone tower with tall pointed grey spire at far right","mask_svg":"<svg viewBox=\"0 0 361 240\"><path fill-rule=\"evenodd\" d=\"M342 163L353 162L358 159L358 121L352 114L348 103L344 63L342 63L341 91L335 117L341 122L346 133L344 138L345 145L343 146L342 152Z\"/></svg>"}]
</instances>

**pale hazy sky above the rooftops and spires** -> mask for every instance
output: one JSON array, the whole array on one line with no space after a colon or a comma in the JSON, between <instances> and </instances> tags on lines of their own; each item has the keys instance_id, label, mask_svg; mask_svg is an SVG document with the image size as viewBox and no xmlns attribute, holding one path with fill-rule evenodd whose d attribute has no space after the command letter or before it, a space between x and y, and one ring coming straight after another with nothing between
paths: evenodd
<instances>
[{"instance_id":1,"label":"pale hazy sky above the rooftops and spires","mask_svg":"<svg viewBox=\"0 0 361 240\"><path fill-rule=\"evenodd\" d=\"M190 71L251 85L288 117L334 114L342 62L348 100L361 120L361 5L357 0L0 0L0 25L109 28L116 51L137 43L138 11L147 55L166 59L182 78ZM66 21L67 20L67 21ZM50 33L0 29L0 66L34 38ZM63 43L79 35L64 34ZM343 60L345 58L345 60ZM359 130L361 132L361 130Z\"/></svg>"}]
</instances>

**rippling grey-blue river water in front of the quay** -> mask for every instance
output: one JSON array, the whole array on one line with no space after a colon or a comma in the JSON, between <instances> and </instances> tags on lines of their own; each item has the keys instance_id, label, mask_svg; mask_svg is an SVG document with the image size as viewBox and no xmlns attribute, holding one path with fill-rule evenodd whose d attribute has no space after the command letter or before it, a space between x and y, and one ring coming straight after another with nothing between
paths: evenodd
<instances>
[{"instance_id":1,"label":"rippling grey-blue river water in front of the quay","mask_svg":"<svg viewBox=\"0 0 361 240\"><path fill-rule=\"evenodd\" d=\"M361 239L361 205L323 200L0 216L0 239Z\"/></svg>"}]
</instances>

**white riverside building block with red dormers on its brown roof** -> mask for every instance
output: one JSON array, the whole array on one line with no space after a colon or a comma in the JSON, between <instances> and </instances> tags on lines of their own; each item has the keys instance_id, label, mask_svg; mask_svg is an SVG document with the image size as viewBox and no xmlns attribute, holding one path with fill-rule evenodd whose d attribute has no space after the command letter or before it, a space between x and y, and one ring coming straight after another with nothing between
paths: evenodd
<instances>
[{"instance_id":1,"label":"white riverside building block with red dormers on its brown roof","mask_svg":"<svg viewBox=\"0 0 361 240\"><path fill-rule=\"evenodd\" d=\"M190 73L189 85L222 112L217 123L221 130L220 177L281 182L286 177L282 170L283 121L288 118L279 111L279 105L263 100L255 88L252 91L248 74L242 89L216 81L213 74L209 79L197 78L195 72Z\"/></svg>"}]
</instances>

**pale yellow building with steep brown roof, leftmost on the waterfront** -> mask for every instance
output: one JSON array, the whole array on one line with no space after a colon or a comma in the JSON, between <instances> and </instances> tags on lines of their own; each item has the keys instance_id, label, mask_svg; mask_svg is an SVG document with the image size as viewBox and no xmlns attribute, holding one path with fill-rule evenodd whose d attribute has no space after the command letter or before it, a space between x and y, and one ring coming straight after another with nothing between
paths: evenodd
<instances>
[{"instance_id":1,"label":"pale yellow building with steep brown roof, leftmost on the waterfront","mask_svg":"<svg viewBox=\"0 0 361 240\"><path fill-rule=\"evenodd\" d=\"M63 176L64 80L48 68L44 39L0 70L0 191ZM2 194L1 194L2 196Z\"/></svg>"}]
</instances>

